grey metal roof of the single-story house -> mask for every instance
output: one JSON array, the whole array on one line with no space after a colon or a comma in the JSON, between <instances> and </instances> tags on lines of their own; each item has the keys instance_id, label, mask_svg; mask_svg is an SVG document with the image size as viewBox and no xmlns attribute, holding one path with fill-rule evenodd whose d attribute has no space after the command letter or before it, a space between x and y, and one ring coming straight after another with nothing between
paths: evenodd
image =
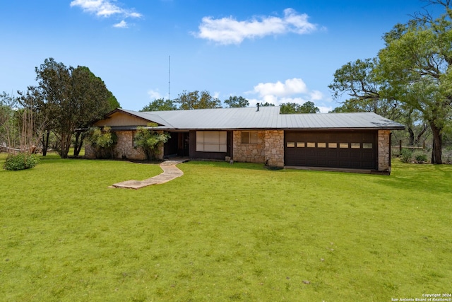
<instances>
[{"instance_id":1,"label":"grey metal roof of the single-story house","mask_svg":"<svg viewBox=\"0 0 452 302\"><path fill-rule=\"evenodd\" d=\"M118 109L159 124L159 129L405 129L373 112L280 114L279 107L215 108L137 112ZM115 110L117 111L117 110Z\"/></svg>"}]
</instances>

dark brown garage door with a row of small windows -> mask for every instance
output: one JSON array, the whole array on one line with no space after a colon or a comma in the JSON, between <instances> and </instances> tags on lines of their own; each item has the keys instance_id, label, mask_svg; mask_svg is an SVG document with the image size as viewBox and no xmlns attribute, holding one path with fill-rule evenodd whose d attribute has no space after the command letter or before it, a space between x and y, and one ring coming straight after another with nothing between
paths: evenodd
<instances>
[{"instance_id":1,"label":"dark brown garage door with a row of small windows","mask_svg":"<svg viewBox=\"0 0 452 302\"><path fill-rule=\"evenodd\" d=\"M285 165L376 169L376 132L285 132Z\"/></svg>"}]
</instances>

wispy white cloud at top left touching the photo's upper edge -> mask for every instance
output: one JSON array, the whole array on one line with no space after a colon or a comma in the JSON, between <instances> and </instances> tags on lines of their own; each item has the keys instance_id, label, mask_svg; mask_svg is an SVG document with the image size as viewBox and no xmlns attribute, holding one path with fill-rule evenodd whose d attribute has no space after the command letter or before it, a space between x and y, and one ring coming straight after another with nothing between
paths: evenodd
<instances>
[{"instance_id":1,"label":"wispy white cloud at top left touching the photo's upper edge","mask_svg":"<svg viewBox=\"0 0 452 302\"><path fill-rule=\"evenodd\" d=\"M83 11L93 13L100 17L122 16L124 18L141 18L141 13L121 8L112 0L73 0L71 7L79 6Z\"/></svg>"}]
</instances>

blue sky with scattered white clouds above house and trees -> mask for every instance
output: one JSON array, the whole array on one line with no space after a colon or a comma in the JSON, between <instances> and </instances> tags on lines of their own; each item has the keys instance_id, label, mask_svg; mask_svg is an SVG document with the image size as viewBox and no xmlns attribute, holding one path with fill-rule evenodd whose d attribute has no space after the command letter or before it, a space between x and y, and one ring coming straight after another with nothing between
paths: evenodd
<instances>
[{"instance_id":1,"label":"blue sky with scattered white clouds above house and trees","mask_svg":"<svg viewBox=\"0 0 452 302\"><path fill-rule=\"evenodd\" d=\"M0 9L0 92L36 85L53 57L88 66L122 108L209 91L226 100L338 104L336 69L375 57L418 0L20 0ZM168 83L170 82L170 83Z\"/></svg>"}]
</instances>

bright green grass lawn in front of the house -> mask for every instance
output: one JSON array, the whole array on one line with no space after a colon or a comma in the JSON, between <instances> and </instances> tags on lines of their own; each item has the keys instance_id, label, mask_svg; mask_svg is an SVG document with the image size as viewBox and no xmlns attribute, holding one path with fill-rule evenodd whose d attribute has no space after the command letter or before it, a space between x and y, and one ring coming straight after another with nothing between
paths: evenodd
<instances>
[{"instance_id":1,"label":"bright green grass lawn in front of the house","mask_svg":"<svg viewBox=\"0 0 452 302\"><path fill-rule=\"evenodd\" d=\"M0 165L6 156L0 155ZM0 170L0 301L393 301L452 292L452 166L391 176L44 159Z\"/></svg>"}]
</instances>

